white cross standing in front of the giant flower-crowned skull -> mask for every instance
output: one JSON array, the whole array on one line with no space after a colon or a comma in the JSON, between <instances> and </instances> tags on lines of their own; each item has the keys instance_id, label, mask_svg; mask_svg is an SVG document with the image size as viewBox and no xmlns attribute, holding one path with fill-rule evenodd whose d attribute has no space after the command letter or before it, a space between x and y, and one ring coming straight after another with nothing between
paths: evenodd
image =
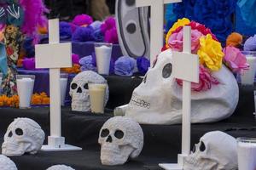
<instances>
[{"instance_id":1,"label":"white cross standing in front of the giant flower-crowned skull","mask_svg":"<svg viewBox=\"0 0 256 170\"><path fill-rule=\"evenodd\" d=\"M191 132L191 82L199 82L199 58L191 54L191 28L183 27L183 52L173 52L172 75L183 80L183 124L182 154L178 155L177 164L160 164L166 170L182 170L183 160L190 152Z\"/></svg>"}]
</instances>

